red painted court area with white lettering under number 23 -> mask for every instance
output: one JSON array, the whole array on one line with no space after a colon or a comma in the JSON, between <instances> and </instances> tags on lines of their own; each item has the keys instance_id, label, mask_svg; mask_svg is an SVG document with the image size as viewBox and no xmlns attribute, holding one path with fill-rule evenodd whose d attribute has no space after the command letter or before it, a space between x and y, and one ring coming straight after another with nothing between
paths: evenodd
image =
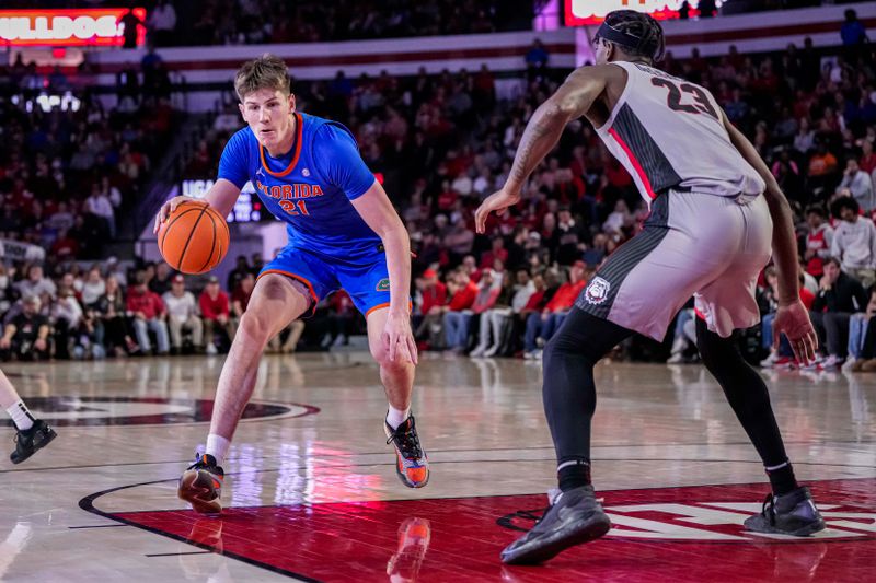
<instances>
[{"instance_id":1,"label":"red painted court area with white lettering under number 23","mask_svg":"<svg viewBox=\"0 0 876 583\"><path fill-rule=\"evenodd\" d=\"M817 537L752 536L764 485L606 491L614 528L543 567L504 567L544 495L108 514L151 532L316 581L856 581L876 562L876 480L812 482Z\"/></svg>"}]
</instances>

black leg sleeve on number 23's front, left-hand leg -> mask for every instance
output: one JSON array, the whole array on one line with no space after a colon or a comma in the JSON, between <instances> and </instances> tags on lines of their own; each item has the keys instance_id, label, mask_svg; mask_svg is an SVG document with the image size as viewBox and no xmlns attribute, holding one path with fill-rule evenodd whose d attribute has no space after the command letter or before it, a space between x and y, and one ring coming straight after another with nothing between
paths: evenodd
<instances>
[{"instance_id":1,"label":"black leg sleeve on number 23's front, left-hand leg","mask_svg":"<svg viewBox=\"0 0 876 583\"><path fill-rule=\"evenodd\" d=\"M542 398L563 490L590 481L590 421L596 409L593 365L631 334L573 307L544 348Z\"/></svg>"}]
</instances>

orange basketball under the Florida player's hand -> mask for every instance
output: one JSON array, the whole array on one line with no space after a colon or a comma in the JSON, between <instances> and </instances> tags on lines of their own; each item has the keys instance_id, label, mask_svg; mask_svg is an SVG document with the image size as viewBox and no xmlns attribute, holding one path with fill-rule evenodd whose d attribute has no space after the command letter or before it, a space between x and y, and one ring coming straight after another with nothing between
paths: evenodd
<instances>
[{"instance_id":1,"label":"orange basketball under the Florida player's hand","mask_svg":"<svg viewBox=\"0 0 876 583\"><path fill-rule=\"evenodd\" d=\"M204 273L219 265L229 242L224 218L204 200L186 200L158 231L161 256L183 273Z\"/></svg>"}]
</instances>

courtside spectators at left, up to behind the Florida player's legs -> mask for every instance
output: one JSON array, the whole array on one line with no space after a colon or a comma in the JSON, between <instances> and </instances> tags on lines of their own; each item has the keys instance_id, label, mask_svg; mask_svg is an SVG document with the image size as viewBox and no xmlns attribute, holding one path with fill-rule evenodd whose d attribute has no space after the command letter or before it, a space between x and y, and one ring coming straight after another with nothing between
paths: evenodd
<instances>
[{"instance_id":1,"label":"courtside spectators at left, up to behind the Florida player's legs","mask_svg":"<svg viewBox=\"0 0 876 583\"><path fill-rule=\"evenodd\" d=\"M227 281L174 272L165 263L117 259L0 264L0 360L103 359L226 352L264 261L237 259ZM327 350L361 331L346 293L291 323L268 350ZM360 318L360 316L358 316Z\"/></svg>"}]
</instances>

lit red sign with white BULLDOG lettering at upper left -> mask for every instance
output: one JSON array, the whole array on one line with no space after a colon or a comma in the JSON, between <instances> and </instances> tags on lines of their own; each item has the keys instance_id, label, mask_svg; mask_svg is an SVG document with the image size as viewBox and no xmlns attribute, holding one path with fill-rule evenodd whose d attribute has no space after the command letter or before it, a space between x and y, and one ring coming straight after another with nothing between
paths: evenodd
<instances>
[{"instance_id":1,"label":"lit red sign with white BULLDOG lettering at upper left","mask_svg":"<svg viewBox=\"0 0 876 583\"><path fill-rule=\"evenodd\" d=\"M76 10L0 10L0 45L7 46L122 46L126 8ZM132 9L146 21L146 9ZM137 44L146 28L137 27Z\"/></svg>"}]
</instances>

